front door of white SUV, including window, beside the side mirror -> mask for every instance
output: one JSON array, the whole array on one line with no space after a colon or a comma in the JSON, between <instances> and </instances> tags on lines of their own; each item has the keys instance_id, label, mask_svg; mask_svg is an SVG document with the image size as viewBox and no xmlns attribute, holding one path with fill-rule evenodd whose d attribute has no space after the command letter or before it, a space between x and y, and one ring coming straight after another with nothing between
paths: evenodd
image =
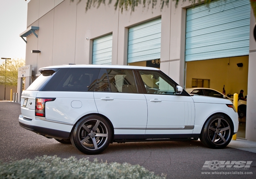
<instances>
[{"instance_id":1,"label":"front door of white SUV, including window, beside the side mirror","mask_svg":"<svg viewBox=\"0 0 256 179\"><path fill-rule=\"evenodd\" d=\"M147 100L146 138L157 134L192 134L195 106L190 96L176 95L176 85L159 71L139 71Z\"/></svg>"}]
</instances>

